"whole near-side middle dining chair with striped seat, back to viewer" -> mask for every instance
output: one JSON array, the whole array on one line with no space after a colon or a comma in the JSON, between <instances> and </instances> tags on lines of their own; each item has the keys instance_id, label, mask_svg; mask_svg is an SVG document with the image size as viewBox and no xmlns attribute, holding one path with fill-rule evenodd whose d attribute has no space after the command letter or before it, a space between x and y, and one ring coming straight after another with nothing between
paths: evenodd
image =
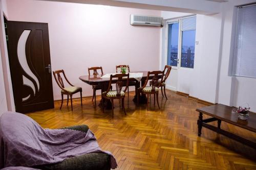
<instances>
[{"instance_id":1,"label":"whole near-side middle dining chair with striped seat, back to viewer","mask_svg":"<svg viewBox=\"0 0 256 170\"><path fill-rule=\"evenodd\" d=\"M116 81L116 90L111 90L111 84L113 83L113 78L117 80ZM125 82L125 83L124 83ZM124 84L126 85L124 85ZM101 96L102 100L104 102L104 99L111 100L112 103L112 117L114 117L114 99L121 99L122 100L122 110L124 111L124 114L126 115L125 108L124 108L124 98L125 98L125 91L129 85L129 74L117 74L117 75L111 75L110 76L110 82L108 90L104 91ZM122 87L125 87L124 90L122 90ZM103 113L104 113L104 107Z\"/></svg>"}]
</instances>

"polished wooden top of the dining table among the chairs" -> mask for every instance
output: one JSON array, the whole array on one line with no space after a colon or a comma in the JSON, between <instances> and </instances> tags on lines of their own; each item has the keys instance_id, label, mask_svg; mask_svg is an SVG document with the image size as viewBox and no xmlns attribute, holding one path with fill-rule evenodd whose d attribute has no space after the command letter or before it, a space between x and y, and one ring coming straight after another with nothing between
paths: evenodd
<instances>
[{"instance_id":1,"label":"polished wooden top of the dining table among the chairs","mask_svg":"<svg viewBox=\"0 0 256 170\"><path fill-rule=\"evenodd\" d=\"M148 71L134 71L134 72L143 72L142 78L146 78ZM110 81L110 78L101 78L102 76L103 75L80 76L79 79L88 84L103 83L103 82Z\"/></svg>"}]
</instances>

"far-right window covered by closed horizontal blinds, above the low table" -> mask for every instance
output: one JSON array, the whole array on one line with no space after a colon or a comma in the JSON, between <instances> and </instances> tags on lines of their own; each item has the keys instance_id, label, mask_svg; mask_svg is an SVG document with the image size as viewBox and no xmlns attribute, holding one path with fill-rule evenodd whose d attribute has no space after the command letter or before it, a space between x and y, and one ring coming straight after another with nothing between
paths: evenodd
<instances>
[{"instance_id":1,"label":"far-right window covered by closed horizontal blinds, above the low table","mask_svg":"<svg viewBox=\"0 0 256 170\"><path fill-rule=\"evenodd\" d=\"M233 76L256 78L256 4L238 8Z\"/></svg>"}]
</instances>

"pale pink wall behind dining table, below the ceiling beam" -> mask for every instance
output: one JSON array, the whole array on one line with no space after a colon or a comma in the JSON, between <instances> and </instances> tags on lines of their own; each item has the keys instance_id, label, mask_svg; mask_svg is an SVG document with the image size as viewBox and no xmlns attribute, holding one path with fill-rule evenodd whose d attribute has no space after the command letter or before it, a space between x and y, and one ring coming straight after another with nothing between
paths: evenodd
<instances>
[{"instance_id":1,"label":"pale pink wall behind dining table, below the ceiling beam","mask_svg":"<svg viewBox=\"0 0 256 170\"><path fill-rule=\"evenodd\" d=\"M132 71L157 70L160 29L130 25L130 14L160 16L160 11L32 0L8 0L8 19L49 23L52 69L64 69L70 81L92 95L81 82L88 67L129 64ZM60 90L53 79L54 100ZM78 95L77 95L78 96ZM76 96L75 96L76 97Z\"/></svg>"}]
</instances>

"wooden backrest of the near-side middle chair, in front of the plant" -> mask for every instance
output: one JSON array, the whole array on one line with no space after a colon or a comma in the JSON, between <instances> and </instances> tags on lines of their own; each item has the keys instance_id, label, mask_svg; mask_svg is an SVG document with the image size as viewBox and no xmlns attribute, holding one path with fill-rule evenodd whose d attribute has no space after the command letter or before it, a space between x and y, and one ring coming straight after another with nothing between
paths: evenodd
<instances>
[{"instance_id":1,"label":"wooden backrest of the near-side middle chair, in front of the plant","mask_svg":"<svg viewBox=\"0 0 256 170\"><path fill-rule=\"evenodd\" d=\"M115 80L113 80L113 78ZM117 79L117 80L116 80ZM111 89L111 85L114 84L113 81L116 81L116 91L117 91L117 95L116 96L120 96L121 95L121 90L123 87L123 82L126 82L125 88L124 88L124 92L126 91L127 87L129 86L129 73L128 74L116 74L116 75L110 75L110 82L109 82L109 88L106 91L106 93L108 93Z\"/></svg>"}]
</instances>

